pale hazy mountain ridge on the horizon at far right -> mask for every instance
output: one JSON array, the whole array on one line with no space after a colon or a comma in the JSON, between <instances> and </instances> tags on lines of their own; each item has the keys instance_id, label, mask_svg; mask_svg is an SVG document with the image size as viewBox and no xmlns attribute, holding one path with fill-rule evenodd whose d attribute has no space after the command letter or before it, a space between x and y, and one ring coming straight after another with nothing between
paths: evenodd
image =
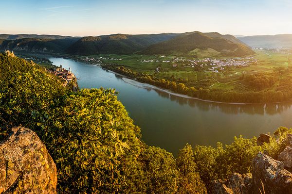
<instances>
[{"instance_id":1,"label":"pale hazy mountain ridge on the horizon at far right","mask_svg":"<svg viewBox=\"0 0 292 194\"><path fill-rule=\"evenodd\" d=\"M292 48L292 34L245 36L238 39L251 47Z\"/></svg>"}]
</instances>

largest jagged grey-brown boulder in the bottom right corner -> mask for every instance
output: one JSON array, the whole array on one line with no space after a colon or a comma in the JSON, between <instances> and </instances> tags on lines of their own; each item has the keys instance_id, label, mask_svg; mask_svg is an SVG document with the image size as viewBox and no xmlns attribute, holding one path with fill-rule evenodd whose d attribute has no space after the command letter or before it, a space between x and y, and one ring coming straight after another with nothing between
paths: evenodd
<instances>
[{"instance_id":1,"label":"largest jagged grey-brown boulder in the bottom right corner","mask_svg":"<svg viewBox=\"0 0 292 194\"><path fill-rule=\"evenodd\" d=\"M292 174L261 152L253 160L252 184L255 194L292 194Z\"/></svg>"}]
</instances>

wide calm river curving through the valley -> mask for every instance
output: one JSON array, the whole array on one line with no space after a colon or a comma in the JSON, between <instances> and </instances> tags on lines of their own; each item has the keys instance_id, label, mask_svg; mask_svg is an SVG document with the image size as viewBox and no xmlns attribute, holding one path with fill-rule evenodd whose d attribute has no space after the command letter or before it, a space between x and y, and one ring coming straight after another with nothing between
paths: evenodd
<instances>
[{"instance_id":1,"label":"wide calm river curving through the valley","mask_svg":"<svg viewBox=\"0 0 292 194\"><path fill-rule=\"evenodd\" d=\"M234 105L203 102L137 87L99 66L70 59L49 58L54 65L71 67L80 88L115 88L142 139L177 154L186 143L216 146L230 144L234 136L251 138L292 127L292 103Z\"/></svg>"}]
</instances>

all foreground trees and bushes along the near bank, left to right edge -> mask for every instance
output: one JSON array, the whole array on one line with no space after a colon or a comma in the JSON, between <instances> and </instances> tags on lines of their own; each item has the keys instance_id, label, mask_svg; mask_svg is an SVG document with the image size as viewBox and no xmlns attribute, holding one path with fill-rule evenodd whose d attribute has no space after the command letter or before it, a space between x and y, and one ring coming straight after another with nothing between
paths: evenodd
<instances>
[{"instance_id":1,"label":"all foreground trees and bushes along the near bank, left to right edge","mask_svg":"<svg viewBox=\"0 0 292 194\"><path fill-rule=\"evenodd\" d=\"M227 146L186 145L174 157L141 140L114 90L73 92L45 68L6 54L0 65L0 141L16 126L34 130L56 163L61 194L207 193L214 179L250 172L258 151L276 156L291 132L281 127L263 146L241 136Z\"/></svg>"}]
</instances>

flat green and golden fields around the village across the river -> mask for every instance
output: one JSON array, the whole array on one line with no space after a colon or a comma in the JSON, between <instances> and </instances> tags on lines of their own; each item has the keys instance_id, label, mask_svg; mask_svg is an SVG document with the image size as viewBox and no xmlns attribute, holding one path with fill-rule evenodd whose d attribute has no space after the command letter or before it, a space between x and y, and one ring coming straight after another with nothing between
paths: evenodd
<instances>
[{"instance_id":1,"label":"flat green and golden fields around the village across the river","mask_svg":"<svg viewBox=\"0 0 292 194\"><path fill-rule=\"evenodd\" d=\"M254 75L259 73L271 73L276 67L287 68L292 66L292 55L281 51L255 50L253 56L257 60L255 64L246 66L225 66L219 72L210 70L209 65L188 65L188 60L196 60L192 57L183 57L184 61L177 60L176 56L149 56L149 55L91 55L88 58L99 59L102 64L123 65L132 71L155 75L157 78L187 79L188 81L209 80L209 87L216 89L241 89L240 79L243 75ZM84 60L86 57L79 57ZM201 58L202 60L203 58ZM228 58L219 58L225 60ZM173 65L177 66L174 67ZM157 68L159 71L157 71Z\"/></svg>"}]
</instances>

